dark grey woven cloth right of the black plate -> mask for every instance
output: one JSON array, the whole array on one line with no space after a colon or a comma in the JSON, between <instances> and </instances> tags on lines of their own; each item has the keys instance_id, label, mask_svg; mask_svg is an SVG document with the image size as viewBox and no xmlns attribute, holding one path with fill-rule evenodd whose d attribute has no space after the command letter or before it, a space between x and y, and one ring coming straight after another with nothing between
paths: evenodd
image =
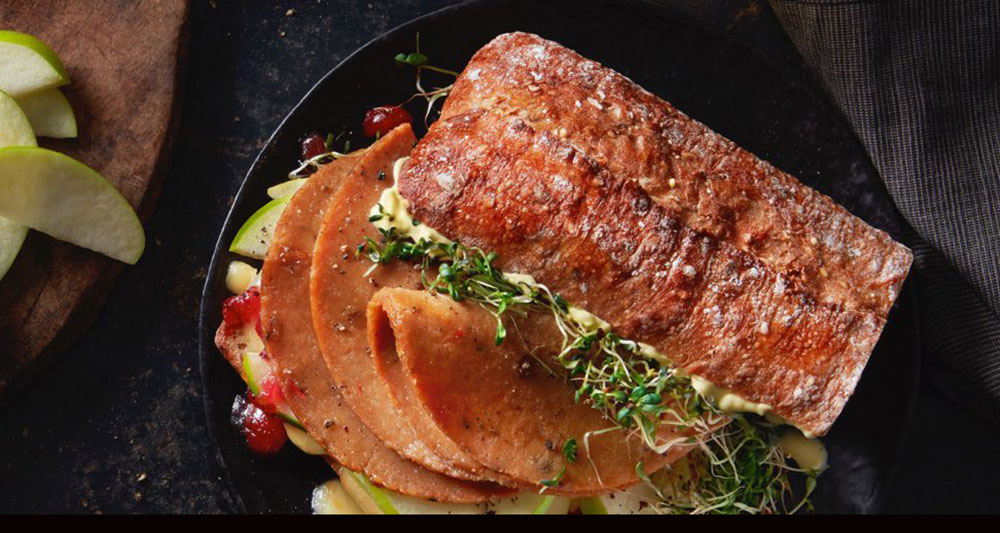
<instances>
[{"instance_id":1,"label":"dark grey woven cloth right of the black plate","mask_svg":"<svg viewBox=\"0 0 1000 533\"><path fill-rule=\"evenodd\" d=\"M1000 422L1000 0L771 0L912 226L925 376Z\"/></svg>"}]
</instances>

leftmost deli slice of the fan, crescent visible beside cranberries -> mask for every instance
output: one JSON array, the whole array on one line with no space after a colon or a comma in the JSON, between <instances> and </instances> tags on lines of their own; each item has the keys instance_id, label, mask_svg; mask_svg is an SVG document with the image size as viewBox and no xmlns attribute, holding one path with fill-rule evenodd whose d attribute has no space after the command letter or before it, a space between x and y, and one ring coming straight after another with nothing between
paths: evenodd
<instances>
[{"instance_id":1,"label":"leftmost deli slice of the fan, crescent visible beside cranberries","mask_svg":"<svg viewBox=\"0 0 1000 533\"><path fill-rule=\"evenodd\" d=\"M313 333L309 268L324 215L336 193L354 176L356 166L372 164L384 149L377 144L324 165L288 202L261 271L261 325L268 361L296 417L341 465L412 496L459 502L496 497L498 487L425 470L368 431L334 386ZM220 334L224 330L225 324ZM232 342L218 344L242 373L238 360L243 351L230 347Z\"/></svg>"}]
</instances>

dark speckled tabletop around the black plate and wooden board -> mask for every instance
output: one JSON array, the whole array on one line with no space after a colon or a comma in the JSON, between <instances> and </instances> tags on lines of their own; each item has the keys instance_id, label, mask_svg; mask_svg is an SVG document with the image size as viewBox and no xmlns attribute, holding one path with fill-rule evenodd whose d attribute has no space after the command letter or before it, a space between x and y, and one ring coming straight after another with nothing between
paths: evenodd
<instances>
[{"instance_id":1,"label":"dark speckled tabletop around the black plate and wooden board","mask_svg":"<svg viewBox=\"0 0 1000 533\"><path fill-rule=\"evenodd\" d=\"M199 297L225 215L254 156L320 76L380 33L454 3L192 0L183 117L149 246L89 334L0 407L0 512L236 508L198 375ZM663 3L799 68L766 3ZM922 383L906 440L887 511L1000 511L1000 428Z\"/></svg>"}]
</instances>

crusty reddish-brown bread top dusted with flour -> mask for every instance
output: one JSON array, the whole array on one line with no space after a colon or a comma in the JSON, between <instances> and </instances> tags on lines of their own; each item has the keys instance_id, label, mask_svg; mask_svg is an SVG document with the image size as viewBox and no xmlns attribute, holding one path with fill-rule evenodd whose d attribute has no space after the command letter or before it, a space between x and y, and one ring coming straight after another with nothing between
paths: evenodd
<instances>
[{"instance_id":1,"label":"crusty reddish-brown bread top dusted with flour","mask_svg":"<svg viewBox=\"0 0 1000 533\"><path fill-rule=\"evenodd\" d=\"M398 185L416 219L815 435L912 261L624 76L524 33L477 52Z\"/></svg>"}]
</instances>

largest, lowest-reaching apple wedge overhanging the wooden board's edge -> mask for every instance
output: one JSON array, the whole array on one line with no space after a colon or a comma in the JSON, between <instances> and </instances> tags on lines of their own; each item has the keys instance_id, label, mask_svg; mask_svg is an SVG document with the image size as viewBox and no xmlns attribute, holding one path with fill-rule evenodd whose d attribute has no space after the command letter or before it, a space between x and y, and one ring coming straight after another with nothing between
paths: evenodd
<instances>
[{"instance_id":1,"label":"largest, lowest-reaching apple wedge overhanging the wooden board's edge","mask_svg":"<svg viewBox=\"0 0 1000 533\"><path fill-rule=\"evenodd\" d=\"M146 245L139 217L108 180L44 148L0 148L0 216L128 264Z\"/></svg>"}]
</instances>

